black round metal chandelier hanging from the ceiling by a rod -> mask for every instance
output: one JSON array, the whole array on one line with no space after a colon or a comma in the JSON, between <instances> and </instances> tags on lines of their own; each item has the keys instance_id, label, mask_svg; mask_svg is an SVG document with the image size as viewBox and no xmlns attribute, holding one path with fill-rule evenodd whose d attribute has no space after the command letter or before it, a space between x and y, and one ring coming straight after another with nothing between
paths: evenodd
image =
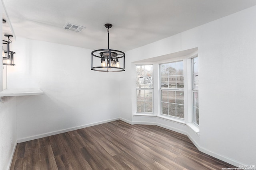
<instances>
[{"instance_id":1,"label":"black round metal chandelier hanging from the ceiling by a rod","mask_svg":"<svg viewBox=\"0 0 256 170\"><path fill-rule=\"evenodd\" d=\"M106 23L105 27L108 29L108 49L99 49L92 51L91 70L101 72L125 71L125 53L122 51L113 50L109 48L109 29L112 27L112 24Z\"/></svg>"}]
</instances>

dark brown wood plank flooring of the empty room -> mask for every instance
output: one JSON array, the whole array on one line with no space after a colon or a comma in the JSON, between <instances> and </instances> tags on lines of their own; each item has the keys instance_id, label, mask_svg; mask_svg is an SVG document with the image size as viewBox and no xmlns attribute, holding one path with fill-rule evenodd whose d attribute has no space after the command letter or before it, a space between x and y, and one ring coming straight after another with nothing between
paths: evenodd
<instances>
[{"instance_id":1,"label":"dark brown wood plank flooring of the empty room","mask_svg":"<svg viewBox=\"0 0 256 170\"><path fill-rule=\"evenodd\" d=\"M18 143L10 170L221 170L186 135L112 121Z\"/></svg>"}]
</instances>

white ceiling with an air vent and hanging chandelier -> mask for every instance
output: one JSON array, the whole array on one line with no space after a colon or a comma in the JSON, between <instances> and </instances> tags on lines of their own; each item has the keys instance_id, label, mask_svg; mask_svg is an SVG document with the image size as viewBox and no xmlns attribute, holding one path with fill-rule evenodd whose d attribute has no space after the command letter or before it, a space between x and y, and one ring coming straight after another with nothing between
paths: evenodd
<instances>
[{"instance_id":1,"label":"white ceiling with an air vent and hanging chandelier","mask_svg":"<svg viewBox=\"0 0 256 170\"><path fill-rule=\"evenodd\" d=\"M107 49L104 24L111 23L110 48L124 52L256 5L256 0L2 1L16 37ZM65 30L66 22L86 28Z\"/></svg>"}]
</instances>

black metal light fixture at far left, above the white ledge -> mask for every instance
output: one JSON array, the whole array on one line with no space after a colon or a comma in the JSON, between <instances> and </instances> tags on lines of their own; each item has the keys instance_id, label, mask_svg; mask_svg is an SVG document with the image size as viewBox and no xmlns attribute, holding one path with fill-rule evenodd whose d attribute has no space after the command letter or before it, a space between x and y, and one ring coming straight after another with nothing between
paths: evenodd
<instances>
[{"instance_id":1,"label":"black metal light fixture at far left, above the white ledge","mask_svg":"<svg viewBox=\"0 0 256 170\"><path fill-rule=\"evenodd\" d=\"M8 35L5 34L5 37L8 37L8 41L3 40L3 44L7 45L7 50L4 50L3 47L3 52L2 52L2 57L3 57L3 65L7 65L7 66L15 66L14 61L13 61L13 57L15 52L14 51L10 51L10 43L12 43L12 41L10 40L10 37L13 37L12 35Z\"/></svg>"}]
</instances>

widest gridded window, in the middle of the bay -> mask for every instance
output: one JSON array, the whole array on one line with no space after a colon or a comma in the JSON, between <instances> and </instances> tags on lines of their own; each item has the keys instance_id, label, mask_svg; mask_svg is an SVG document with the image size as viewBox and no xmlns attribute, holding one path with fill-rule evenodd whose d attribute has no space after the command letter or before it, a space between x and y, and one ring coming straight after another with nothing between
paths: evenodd
<instances>
[{"instance_id":1,"label":"widest gridded window, in the middle of the bay","mask_svg":"<svg viewBox=\"0 0 256 170\"><path fill-rule=\"evenodd\" d=\"M160 64L161 114L184 119L183 61Z\"/></svg>"}]
</instances>

